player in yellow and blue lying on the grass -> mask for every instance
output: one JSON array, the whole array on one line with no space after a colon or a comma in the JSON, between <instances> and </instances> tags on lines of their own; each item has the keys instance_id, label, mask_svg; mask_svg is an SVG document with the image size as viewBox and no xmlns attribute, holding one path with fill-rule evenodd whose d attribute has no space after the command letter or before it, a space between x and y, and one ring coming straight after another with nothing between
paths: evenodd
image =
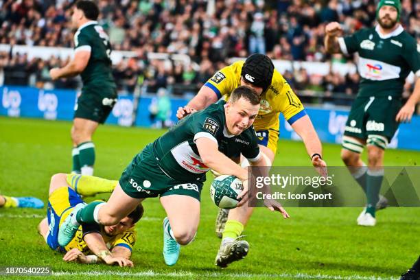
<instances>
[{"instance_id":1,"label":"player in yellow and blue lying on the grass","mask_svg":"<svg viewBox=\"0 0 420 280\"><path fill-rule=\"evenodd\" d=\"M76 205L86 205L80 196L110 193L117 183L116 180L77 174L55 174L51 177L47 218L39 223L38 232L51 249L66 253L63 257L65 261L133 266L130 256L136 242L135 223L143 215L141 204L133 207L113 226L85 224L78 227L67 246L60 246L57 240L58 230L69 213Z\"/></svg>"}]
</instances>

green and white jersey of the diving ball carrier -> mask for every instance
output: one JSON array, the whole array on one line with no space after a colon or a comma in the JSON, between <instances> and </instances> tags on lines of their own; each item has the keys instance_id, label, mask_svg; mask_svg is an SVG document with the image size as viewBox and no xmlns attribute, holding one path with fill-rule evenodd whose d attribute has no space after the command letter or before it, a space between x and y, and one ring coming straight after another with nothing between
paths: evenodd
<instances>
[{"instance_id":1,"label":"green and white jersey of the diving ball carrier","mask_svg":"<svg viewBox=\"0 0 420 280\"><path fill-rule=\"evenodd\" d=\"M249 161L259 159L258 138L252 126L237 136L226 130L225 104L220 101L185 117L154 141L154 156L165 174L175 180L205 180L209 167L202 163L196 146L201 137L215 141L218 150L229 158L242 154Z\"/></svg>"}]
</instances>

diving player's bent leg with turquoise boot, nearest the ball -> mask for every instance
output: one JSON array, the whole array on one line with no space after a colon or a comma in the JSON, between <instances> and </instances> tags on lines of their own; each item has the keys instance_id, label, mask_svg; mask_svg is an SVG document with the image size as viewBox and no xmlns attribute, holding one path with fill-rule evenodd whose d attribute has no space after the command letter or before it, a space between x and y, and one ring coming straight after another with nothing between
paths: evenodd
<instances>
[{"instance_id":1,"label":"diving player's bent leg with turquoise boot, nearest the ball","mask_svg":"<svg viewBox=\"0 0 420 280\"><path fill-rule=\"evenodd\" d=\"M196 236L200 222L200 201L197 198L172 194L161 196L167 218L163 221L163 257L168 266L178 260L180 245L187 245Z\"/></svg>"}]
</instances>

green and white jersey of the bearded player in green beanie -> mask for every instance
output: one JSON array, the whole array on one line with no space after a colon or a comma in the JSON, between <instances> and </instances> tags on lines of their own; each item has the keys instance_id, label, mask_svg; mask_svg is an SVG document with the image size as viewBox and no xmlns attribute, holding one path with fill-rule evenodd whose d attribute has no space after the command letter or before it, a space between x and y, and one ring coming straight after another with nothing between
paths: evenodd
<instances>
[{"instance_id":1,"label":"green and white jersey of the bearded player in green beanie","mask_svg":"<svg viewBox=\"0 0 420 280\"><path fill-rule=\"evenodd\" d=\"M401 97L410 71L420 76L420 46L401 25L386 35L379 25L366 28L338 43L343 54L359 54L360 97Z\"/></svg>"}]
</instances>

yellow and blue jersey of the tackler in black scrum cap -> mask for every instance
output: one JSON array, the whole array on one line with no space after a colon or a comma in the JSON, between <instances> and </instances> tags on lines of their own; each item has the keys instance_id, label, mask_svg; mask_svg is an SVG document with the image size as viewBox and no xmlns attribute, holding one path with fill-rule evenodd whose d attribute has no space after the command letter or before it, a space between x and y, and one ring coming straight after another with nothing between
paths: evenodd
<instances>
[{"instance_id":1,"label":"yellow and blue jersey of the tackler in black scrum cap","mask_svg":"<svg viewBox=\"0 0 420 280\"><path fill-rule=\"evenodd\" d=\"M224 97L225 100L229 100L232 91L241 85L242 65L244 61L237 61L222 68L205 83L205 86L213 90L218 98ZM294 94L281 73L275 70L271 85L261 95L258 116L254 122L260 144L273 152L277 150L279 139L280 113L290 125L306 115L299 97Z\"/></svg>"}]
</instances>

